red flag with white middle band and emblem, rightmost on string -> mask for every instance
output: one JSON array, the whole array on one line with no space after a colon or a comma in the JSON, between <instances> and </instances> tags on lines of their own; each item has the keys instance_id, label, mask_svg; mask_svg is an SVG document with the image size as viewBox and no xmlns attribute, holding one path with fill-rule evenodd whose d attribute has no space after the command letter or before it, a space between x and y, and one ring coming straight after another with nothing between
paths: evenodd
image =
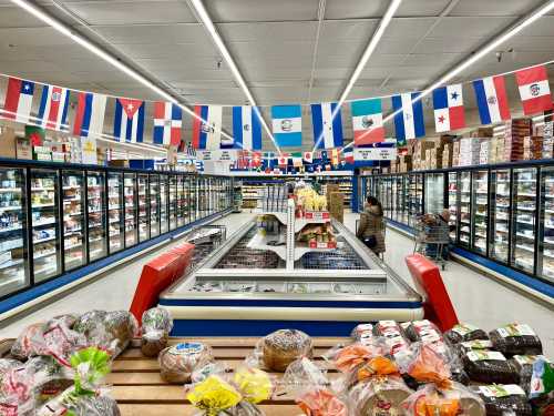
<instances>
[{"instance_id":1,"label":"red flag with white middle band and emblem, rightmost on string","mask_svg":"<svg viewBox=\"0 0 554 416\"><path fill-rule=\"evenodd\" d=\"M552 109L551 88L546 67L533 67L515 72L523 113L536 114Z\"/></svg>"}]
</instances>

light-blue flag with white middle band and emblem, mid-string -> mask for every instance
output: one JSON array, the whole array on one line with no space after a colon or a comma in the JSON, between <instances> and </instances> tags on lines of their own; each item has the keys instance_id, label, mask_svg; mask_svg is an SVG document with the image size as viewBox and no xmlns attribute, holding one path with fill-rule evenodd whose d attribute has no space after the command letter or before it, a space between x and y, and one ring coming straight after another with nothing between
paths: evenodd
<instances>
[{"instance_id":1,"label":"light-blue flag with white middle band and emblem, mid-string","mask_svg":"<svg viewBox=\"0 0 554 416\"><path fill-rule=\"evenodd\" d=\"M300 105L271 106L273 132L279 148L302 145L302 109Z\"/></svg>"}]
</instances>

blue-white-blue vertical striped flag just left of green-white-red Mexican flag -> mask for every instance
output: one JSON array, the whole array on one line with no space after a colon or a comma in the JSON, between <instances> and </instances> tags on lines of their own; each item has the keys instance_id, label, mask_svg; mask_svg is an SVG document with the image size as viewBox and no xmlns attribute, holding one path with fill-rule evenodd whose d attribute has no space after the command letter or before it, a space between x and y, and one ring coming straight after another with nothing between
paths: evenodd
<instances>
[{"instance_id":1,"label":"blue-white-blue vertical striped flag just left of green-white-red Mexican flag","mask_svg":"<svg viewBox=\"0 0 554 416\"><path fill-rule=\"evenodd\" d=\"M311 104L314 141L318 149L342 146L342 120L340 109L335 102Z\"/></svg>"}]
</instances>

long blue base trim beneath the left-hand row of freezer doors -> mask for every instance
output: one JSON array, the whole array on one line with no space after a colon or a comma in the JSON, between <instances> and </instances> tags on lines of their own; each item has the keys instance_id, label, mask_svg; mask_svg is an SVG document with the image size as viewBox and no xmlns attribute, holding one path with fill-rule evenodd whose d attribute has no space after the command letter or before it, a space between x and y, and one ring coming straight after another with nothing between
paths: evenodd
<instances>
[{"instance_id":1,"label":"long blue base trim beneath the left-hand row of freezer doors","mask_svg":"<svg viewBox=\"0 0 554 416\"><path fill-rule=\"evenodd\" d=\"M52 291L55 291L59 287L65 286L66 284L70 284L72 282L75 282L75 281L86 276L88 274L90 274L92 272L95 272L100 268L103 268L103 267L105 267L114 262L117 262L124 257L127 257L132 254L135 254L137 252L141 252L141 251L147 248L147 247L151 247L155 244L158 244L158 243L161 243L161 242L163 242L163 241L165 241L174 235L181 234L181 233L183 233L183 232L185 232L185 231L187 231L187 230L189 230L198 224L206 223L211 220L214 220L215 217L217 217L219 215L225 215L229 212L230 212L230 210L226 210L226 211L222 211L217 214L206 216L205 219L195 221L195 222L187 224L187 225L184 225L179 229L170 231L163 235L160 235L157 237L148 240L144 243L140 243L133 247L114 253L114 254L110 255L109 257L99 260L98 262L94 262L92 264L83 266L74 272L66 273L60 277L55 277L55 278L53 278L49 282L45 282L43 284L39 284L37 286L30 287L29 290L25 290L24 292L18 293L17 295L10 296L7 300L0 302L0 314L8 312L8 311L11 311L14 307L18 307L18 306L21 306L28 302L31 302L31 301L35 300L37 297L43 296Z\"/></svg>"}]
</instances>

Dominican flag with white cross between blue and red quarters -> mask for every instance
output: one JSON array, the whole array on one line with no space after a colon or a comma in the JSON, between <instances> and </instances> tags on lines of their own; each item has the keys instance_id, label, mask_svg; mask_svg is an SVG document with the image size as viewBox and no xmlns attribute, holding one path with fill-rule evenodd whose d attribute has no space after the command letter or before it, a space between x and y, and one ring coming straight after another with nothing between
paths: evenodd
<instances>
[{"instance_id":1,"label":"Dominican flag with white cross between blue and red quarters","mask_svg":"<svg viewBox=\"0 0 554 416\"><path fill-rule=\"evenodd\" d=\"M183 110L171 102L154 103L154 143L164 145L181 144Z\"/></svg>"}]
</instances>

